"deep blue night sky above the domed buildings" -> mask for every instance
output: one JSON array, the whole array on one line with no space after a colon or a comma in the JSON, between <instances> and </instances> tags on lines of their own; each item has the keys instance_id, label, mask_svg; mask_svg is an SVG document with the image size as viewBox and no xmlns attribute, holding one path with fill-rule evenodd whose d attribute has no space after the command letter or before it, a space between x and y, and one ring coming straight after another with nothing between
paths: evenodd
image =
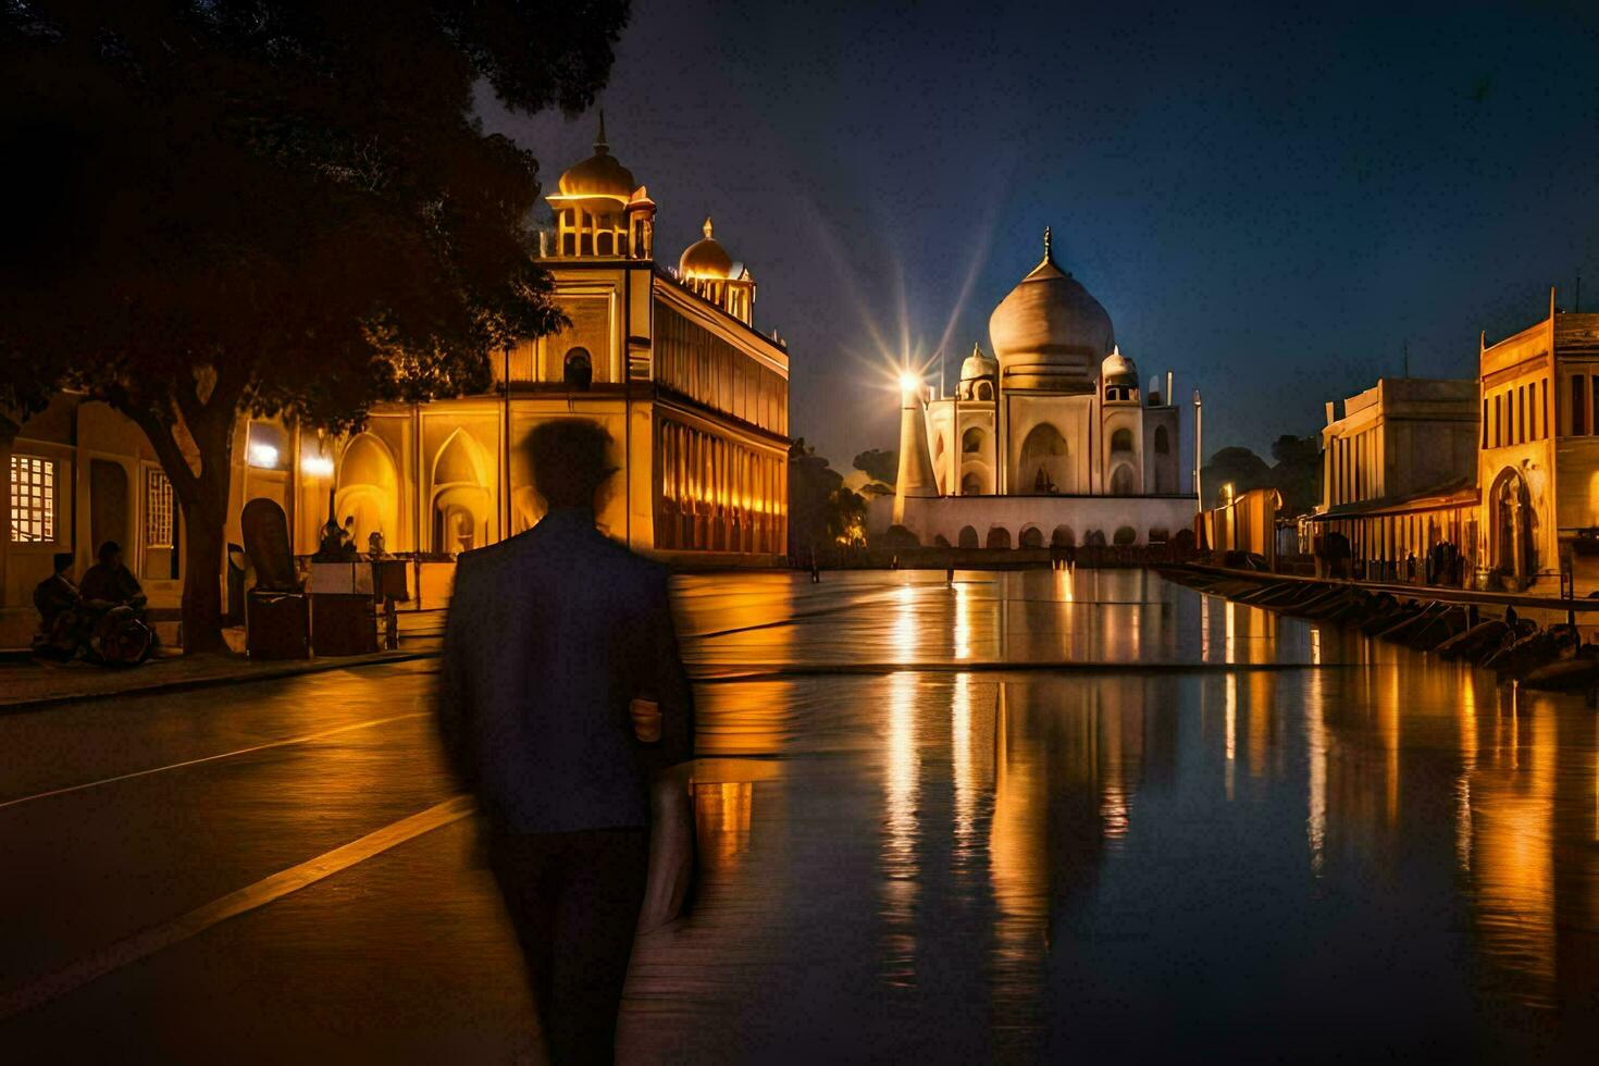
<instances>
[{"instance_id":1,"label":"deep blue night sky above the domed buildings","mask_svg":"<svg viewBox=\"0 0 1599 1066\"><path fill-rule=\"evenodd\" d=\"M1046 224L1145 380L1202 388L1207 454L1314 432L1406 340L1471 376L1578 270L1599 308L1599 3L635 0L601 104L659 257L715 214L846 470L897 443L886 360L953 379ZM481 110L547 189L593 139Z\"/></svg>"}]
</instances>

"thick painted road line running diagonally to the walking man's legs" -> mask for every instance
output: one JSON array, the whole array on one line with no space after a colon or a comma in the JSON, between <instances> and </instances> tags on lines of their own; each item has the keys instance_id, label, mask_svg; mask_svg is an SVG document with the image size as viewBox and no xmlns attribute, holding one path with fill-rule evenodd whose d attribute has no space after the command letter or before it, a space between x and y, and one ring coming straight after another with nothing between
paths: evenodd
<instances>
[{"instance_id":1,"label":"thick painted road line running diagonally to the walking man's legs","mask_svg":"<svg viewBox=\"0 0 1599 1066\"><path fill-rule=\"evenodd\" d=\"M451 821L459 821L461 818L470 815L475 809L477 804L472 796L456 796L454 799L446 799L445 802L435 804L427 810L419 810L409 818L401 818L400 821L387 825L376 833L368 833L357 841L350 841L344 847L336 847L331 852L307 860L299 866L289 866L288 869L275 873L270 877L264 877L253 885L240 889L238 892L229 892L222 898L213 900L205 906L198 906L169 922L154 925L144 932L128 937L126 940L120 940L109 948L93 951L48 977L0 994L0 1020L19 1015L24 1010L46 1004L59 996L66 996L67 992L110 973L112 970L120 970L122 967L138 962L139 959L146 959L157 951L171 948L173 945L189 940L190 937L197 937L219 922L225 922L230 917L265 906L267 903L280 900L291 892L299 892L305 885L315 884L323 877L331 877L336 873L349 869L357 863L385 852L390 847L419 837L424 833L446 826Z\"/></svg>"}]
</instances>

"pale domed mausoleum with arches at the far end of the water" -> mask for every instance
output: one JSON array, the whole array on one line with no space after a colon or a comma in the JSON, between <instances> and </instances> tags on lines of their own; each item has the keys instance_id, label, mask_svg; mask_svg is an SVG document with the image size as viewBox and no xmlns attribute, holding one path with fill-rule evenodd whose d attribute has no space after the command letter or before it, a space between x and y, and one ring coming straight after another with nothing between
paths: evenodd
<instances>
[{"instance_id":1,"label":"pale domed mausoleum with arches at the far end of the water","mask_svg":"<svg viewBox=\"0 0 1599 1066\"><path fill-rule=\"evenodd\" d=\"M905 382L900 468L878 532L903 526L921 543L1044 547L1150 543L1193 524L1183 484L1178 406L1140 387L1110 315L1044 259L988 320L951 395Z\"/></svg>"}]
</instances>

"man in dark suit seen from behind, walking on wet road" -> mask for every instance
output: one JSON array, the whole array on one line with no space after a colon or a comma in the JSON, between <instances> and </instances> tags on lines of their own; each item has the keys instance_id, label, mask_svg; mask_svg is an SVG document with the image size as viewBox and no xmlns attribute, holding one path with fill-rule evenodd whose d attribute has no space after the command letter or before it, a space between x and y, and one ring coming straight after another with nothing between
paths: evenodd
<instances>
[{"instance_id":1,"label":"man in dark suit seen from behind, walking on wet road","mask_svg":"<svg viewBox=\"0 0 1599 1066\"><path fill-rule=\"evenodd\" d=\"M609 1063L644 897L649 783L694 756L665 567L595 529L609 435L563 419L523 449L548 513L456 569L440 732L488 821L555 1063ZM630 703L659 705L641 740Z\"/></svg>"}]
</instances>

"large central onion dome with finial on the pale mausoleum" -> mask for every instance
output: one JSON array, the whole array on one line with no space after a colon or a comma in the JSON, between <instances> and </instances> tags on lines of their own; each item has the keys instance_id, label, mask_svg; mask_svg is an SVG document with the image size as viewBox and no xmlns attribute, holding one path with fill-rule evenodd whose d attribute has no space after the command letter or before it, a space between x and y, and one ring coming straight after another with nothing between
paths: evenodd
<instances>
[{"instance_id":1,"label":"large central onion dome with finial on the pale mausoleum","mask_svg":"<svg viewBox=\"0 0 1599 1066\"><path fill-rule=\"evenodd\" d=\"M1033 267L988 318L1006 388L1092 393L1100 361L1116 344L1110 315L1055 265L1044 230L1044 262Z\"/></svg>"}]
</instances>

